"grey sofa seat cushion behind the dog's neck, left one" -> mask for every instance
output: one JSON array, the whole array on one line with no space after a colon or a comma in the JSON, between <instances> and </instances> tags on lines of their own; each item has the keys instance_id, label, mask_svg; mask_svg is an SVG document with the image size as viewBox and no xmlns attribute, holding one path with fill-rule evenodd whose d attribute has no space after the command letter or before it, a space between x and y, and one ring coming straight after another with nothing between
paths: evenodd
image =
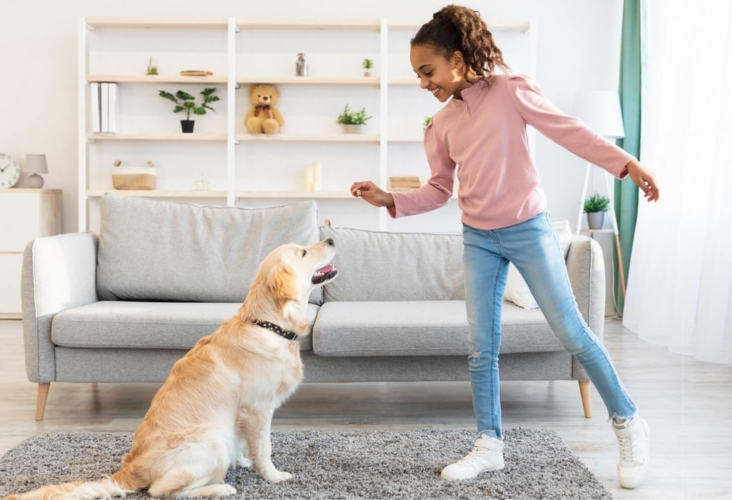
<instances>
[{"instance_id":1,"label":"grey sofa seat cushion behind the dog's neck, left one","mask_svg":"<svg viewBox=\"0 0 732 500\"><path fill-rule=\"evenodd\" d=\"M102 300L56 314L51 340L64 347L190 349L234 316L240 306L236 302ZM311 330L319 307L307 304ZM300 349L313 349L311 337L299 338Z\"/></svg>"}]
</instances>

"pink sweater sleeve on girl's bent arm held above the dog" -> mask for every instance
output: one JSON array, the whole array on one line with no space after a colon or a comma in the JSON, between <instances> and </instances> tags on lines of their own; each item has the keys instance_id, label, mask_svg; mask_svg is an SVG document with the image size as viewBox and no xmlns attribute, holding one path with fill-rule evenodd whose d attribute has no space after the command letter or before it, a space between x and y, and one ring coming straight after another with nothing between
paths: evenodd
<instances>
[{"instance_id":1,"label":"pink sweater sleeve on girl's bent arm held above the dog","mask_svg":"<svg viewBox=\"0 0 732 500\"><path fill-rule=\"evenodd\" d=\"M386 211L392 219L435 210L447 204L452 197L455 162L450 158L447 147L440 139L431 120L425 130L425 153L427 162L430 163L432 177L424 186L417 189L390 192L395 206L386 207Z\"/></svg>"}]
</instances>

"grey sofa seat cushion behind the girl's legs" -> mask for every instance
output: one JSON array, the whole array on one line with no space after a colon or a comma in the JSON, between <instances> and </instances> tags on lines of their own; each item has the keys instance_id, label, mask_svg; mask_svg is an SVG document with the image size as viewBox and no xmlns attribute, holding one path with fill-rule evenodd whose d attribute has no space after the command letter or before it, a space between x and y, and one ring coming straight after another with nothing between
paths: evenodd
<instances>
[{"instance_id":1,"label":"grey sofa seat cushion behind the girl's legs","mask_svg":"<svg viewBox=\"0 0 732 500\"><path fill-rule=\"evenodd\" d=\"M336 243L336 247L337 247ZM501 353L564 349L541 309L504 302ZM464 300L325 302L313 325L321 356L468 355Z\"/></svg>"}]
</instances>

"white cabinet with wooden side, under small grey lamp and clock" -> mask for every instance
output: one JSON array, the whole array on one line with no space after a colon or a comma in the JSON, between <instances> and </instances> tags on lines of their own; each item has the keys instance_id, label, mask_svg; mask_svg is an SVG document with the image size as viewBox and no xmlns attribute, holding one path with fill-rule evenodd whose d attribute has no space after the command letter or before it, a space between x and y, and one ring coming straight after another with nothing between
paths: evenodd
<instances>
[{"instance_id":1,"label":"white cabinet with wooden side, under small grey lamp and clock","mask_svg":"<svg viewBox=\"0 0 732 500\"><path fill-rule=\"evenodd\" d=\"M61 189L0 189L0 214L0 319L20 318L23 251L61 232Z\"/></svg>"}]
</instances>

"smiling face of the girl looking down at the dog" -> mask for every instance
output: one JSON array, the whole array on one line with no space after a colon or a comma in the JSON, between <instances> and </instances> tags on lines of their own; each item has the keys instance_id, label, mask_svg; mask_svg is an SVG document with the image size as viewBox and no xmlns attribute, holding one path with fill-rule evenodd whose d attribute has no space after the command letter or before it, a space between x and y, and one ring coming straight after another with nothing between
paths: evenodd
<instances>
[{"instance_id":1,"label":"smiling face of the girl looking down at the dog","mask_svg":"<svg viewBox=\"0 0 732 500\"><path fill-rule=\"evenodd\" d=\"M472 70L468 72L470 81L463 77L465 60L460 50L456 50L447 60L435 53L429 45L412 45L409 60L414 72L419 77L419 85L426 88L439 102L445 102L449 96L462 99L460 91L471 86L477 80Z\"/></svg>"}]
</instances>

